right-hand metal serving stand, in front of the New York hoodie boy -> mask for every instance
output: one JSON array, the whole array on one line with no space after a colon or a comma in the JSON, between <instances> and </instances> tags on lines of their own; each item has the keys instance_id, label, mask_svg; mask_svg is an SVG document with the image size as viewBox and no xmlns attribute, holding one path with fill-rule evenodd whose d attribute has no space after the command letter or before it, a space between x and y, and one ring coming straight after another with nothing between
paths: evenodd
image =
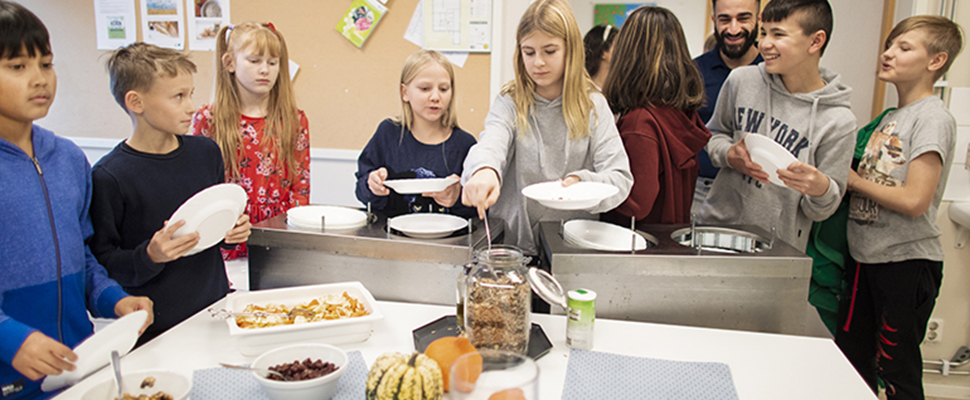
<instances>
[{"instance_id":1,"label":"right-hand metal serving stand, in front of the New York hoodie boy","mask_svg":"<svg viewBox=\"0 0 970 400\"><path fill-rule=\"evenodd\" d=\"M753 226L636 228L652 246L605 252L568 243L561 222L542 222L540 252L564 288L597 293L597 317L805 334L805 253Z\"/></svg>"}]
</instances>

